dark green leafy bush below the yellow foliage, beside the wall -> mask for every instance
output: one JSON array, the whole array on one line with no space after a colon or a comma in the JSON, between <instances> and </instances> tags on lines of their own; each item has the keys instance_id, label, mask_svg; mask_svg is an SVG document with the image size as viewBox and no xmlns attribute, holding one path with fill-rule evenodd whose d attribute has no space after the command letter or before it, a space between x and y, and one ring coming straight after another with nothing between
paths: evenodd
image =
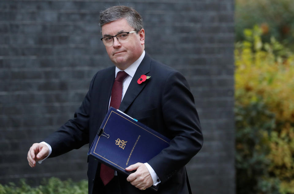
<instances>
[{"instance_id":1,"label":"dark green leafy bush below the yellow foliage, beside the wall","mask_svg":"<svg viewBox=\"0 0 294 194\"><path fill-rule=\"evenodd\" d=\"M279 179L269 175L270 133L275 114L261 101L236 102L236 187L238 194L279 193Z\"/></svg>"}]
</instances>

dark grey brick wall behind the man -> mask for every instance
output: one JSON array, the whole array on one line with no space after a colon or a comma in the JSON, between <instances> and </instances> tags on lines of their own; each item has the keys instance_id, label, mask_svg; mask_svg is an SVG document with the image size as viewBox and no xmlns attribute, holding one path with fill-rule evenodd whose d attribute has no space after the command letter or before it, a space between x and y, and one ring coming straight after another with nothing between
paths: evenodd
<instances>
[{"instance_id":1,"label":"dark grey brick wall behind the man","mask_svg":"<svg viewBox=\"0 0 294 194\"><path fill-rule=\"evenodd\" d=\"M182 72L205 143L187 165L194 193L235 193L233 0L1 0L0 183L86 178L87 145L30 168L32 143L73 117L94 73L111 64L98 17L114 5L141 13L145 50Z\"/></svg>"}]
</instances>

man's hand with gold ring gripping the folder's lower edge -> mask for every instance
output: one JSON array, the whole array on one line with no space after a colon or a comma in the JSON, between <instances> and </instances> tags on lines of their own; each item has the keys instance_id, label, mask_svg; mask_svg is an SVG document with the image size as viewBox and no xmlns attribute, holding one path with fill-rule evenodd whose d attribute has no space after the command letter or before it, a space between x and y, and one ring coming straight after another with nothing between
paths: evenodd
<instances>
[{"instance_id":1,"label":"man's hand with gold ring gripping the folder's lower edge","mask_svg":"<svg viewBox=\"0 0 294 194\"><path fill-rule=\"evenodd\" d=\"M136 163L130 165L126 168L126 171L136 170L136 172L131 173L126 180L129 181L132 185L139 188L140 190L145 190L148 187L153 185L152 177L143 163Z\"/></svg>"}]
</instances>

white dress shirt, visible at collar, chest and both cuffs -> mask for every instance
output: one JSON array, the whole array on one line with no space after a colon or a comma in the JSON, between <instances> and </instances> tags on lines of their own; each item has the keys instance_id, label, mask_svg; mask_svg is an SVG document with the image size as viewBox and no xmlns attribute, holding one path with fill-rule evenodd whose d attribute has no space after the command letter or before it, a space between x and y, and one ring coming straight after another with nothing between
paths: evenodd
<instances>
[{"instance_id":1,"label":"white dress shirt, visible at collar, chest and both cuffs","mask_svg":"<svg viewBox=\"0 0 294 194\"><path fill-rule=\"evenodd\" d=\"M135 61L133 64L131 64L128 68L126 68L124 71L128 74L128 76L125 78L125 80L123 81L123 94L122 94L122 100L123 100L123 97L125 96L126 94L126 90L128 89L130 83L131 83L131 80L133 79L135 73L136 73L136 70L138 69L140 63L142 62L143 58L145 56L145 50L143 50L143 53L141 54L141 56L138 58L137 61ZM119 68L115 67L115 77L117 75L117 73L121 71ZM111 99L111 97L110 97ZM109 104L108 106L110 105L110 99L109 99ZM46 142L41 142L42 144L45 144L47 145L47 147L49 148L49 155L51 154L52 152L52 148L49 144L47 144ZM48 156L49 156L48 155ZM48 156L46 158L48 158ZM46 158L44 158L43 160L45 160ZM43 162L43 160L40 160L39 161L39 164L41 164ZM148 163L144 163L145 166L147 167L151 177L152 177L152 180L153 180L153 185L156 186L160 183L160 180L159 180L159 177L157 176L157 174L155 173L155 171L153 170L153 168L148 164ZM117 175L117 172L115 171L115 175Z\"/></svg>"}]
</instances>

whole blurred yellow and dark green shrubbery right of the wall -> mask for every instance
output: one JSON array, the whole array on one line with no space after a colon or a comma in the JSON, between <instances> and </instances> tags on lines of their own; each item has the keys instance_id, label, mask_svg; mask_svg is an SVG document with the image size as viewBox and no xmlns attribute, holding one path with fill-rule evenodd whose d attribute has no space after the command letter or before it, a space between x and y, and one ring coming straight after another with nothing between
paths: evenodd
<instances>
[{"instance_id":1,"label":"whole blurred yellow and dark green shrubbery right of the wall","mask_svg":"<svg viewBox=\"0 0 294 194\"><path fill-rule=\"evenodd\" d=\"M236 188L294 193L294 54L263 36L244 29L235 47Z\"/></svg>"}]
</instances>

